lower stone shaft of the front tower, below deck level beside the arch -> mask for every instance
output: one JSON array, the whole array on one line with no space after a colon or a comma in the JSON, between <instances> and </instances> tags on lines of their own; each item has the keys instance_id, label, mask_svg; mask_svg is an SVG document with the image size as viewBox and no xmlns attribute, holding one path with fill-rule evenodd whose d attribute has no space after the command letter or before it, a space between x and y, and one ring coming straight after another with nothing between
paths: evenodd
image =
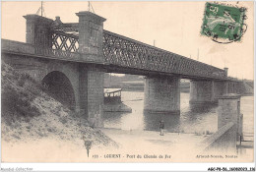
<instances>
[{"instance_id":1,"label":"lower stone shaft of the front tower, below deck level beside the arch","mask_svg":"<svg viewBox=\"0 0 256 172\"><path fill-rule=\"evenodd\" d=\"M81 65L79 70L80 115L85 115L91 126L103 127L104 72Z\"/></svg>"}]
</instances>

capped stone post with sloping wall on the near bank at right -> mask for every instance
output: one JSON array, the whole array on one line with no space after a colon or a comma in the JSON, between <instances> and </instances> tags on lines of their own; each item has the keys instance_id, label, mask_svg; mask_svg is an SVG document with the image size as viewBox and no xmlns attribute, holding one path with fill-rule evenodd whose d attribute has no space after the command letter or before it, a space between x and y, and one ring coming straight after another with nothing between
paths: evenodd
<instances>
[{"instance_id":1,"label":"capped stone post with sloping wall on the near bank at right","mask_svg":"<svg viewBox=\"0 0 256 172\"><path fill-rule=\"evenodd\" d=\"M220 154L236 154L236 144L242 136L242 115L240 95L230 93L219 97L218 131L204 140L199 146L204 150Z\"/></svg>"}]
</instances>

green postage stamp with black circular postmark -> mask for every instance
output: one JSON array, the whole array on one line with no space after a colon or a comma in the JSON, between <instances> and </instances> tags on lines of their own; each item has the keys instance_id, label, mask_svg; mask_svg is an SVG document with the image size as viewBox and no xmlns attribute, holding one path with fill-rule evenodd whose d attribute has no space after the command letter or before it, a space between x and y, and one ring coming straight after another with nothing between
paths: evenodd
<instances>
[{"instance_id":1,"label":"green postage stamp with black circular postmark","mask_svg":"<svg viewBox=\"0 0 256 172\"><path fill-rule=\"evenodd\" d=\"M245 12L245 8L207 2L201 34L218 43L240 41L247 29Z\"/></svg>"}]
</instances>

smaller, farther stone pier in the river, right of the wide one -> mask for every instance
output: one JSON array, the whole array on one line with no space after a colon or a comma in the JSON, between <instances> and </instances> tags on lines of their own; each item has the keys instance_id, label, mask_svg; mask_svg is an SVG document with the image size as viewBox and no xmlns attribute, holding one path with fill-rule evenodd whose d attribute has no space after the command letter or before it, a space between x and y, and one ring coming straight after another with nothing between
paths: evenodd
<instances>
[{"instance_id":1,"label":"smaller, farther stone pier in the river, right of the wide one","mask_svg":"<svg viewBox=\"0 0 256 172\"><path fill-rule=\"evenodd\" d=\"M217 102L214 81L190 81L190 98L192 104Z\"/></svg>"}]
</instances>

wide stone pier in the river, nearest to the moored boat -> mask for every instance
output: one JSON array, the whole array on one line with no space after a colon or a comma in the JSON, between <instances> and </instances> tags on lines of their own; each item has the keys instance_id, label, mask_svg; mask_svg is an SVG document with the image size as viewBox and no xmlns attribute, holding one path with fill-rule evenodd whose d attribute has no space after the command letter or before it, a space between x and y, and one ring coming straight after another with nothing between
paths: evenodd
<instances>
[{"instance_id":1,"label":"wide stone pier in the river, nearest to the moored boat","mask_svg":"<svg viewBox=\"0 0 256 172\"><path fill-rule=\"evenodd\" d=\"M144 110L152 113L180 113L180 79L145 79Z\"/></svg>"}]
</instances>

